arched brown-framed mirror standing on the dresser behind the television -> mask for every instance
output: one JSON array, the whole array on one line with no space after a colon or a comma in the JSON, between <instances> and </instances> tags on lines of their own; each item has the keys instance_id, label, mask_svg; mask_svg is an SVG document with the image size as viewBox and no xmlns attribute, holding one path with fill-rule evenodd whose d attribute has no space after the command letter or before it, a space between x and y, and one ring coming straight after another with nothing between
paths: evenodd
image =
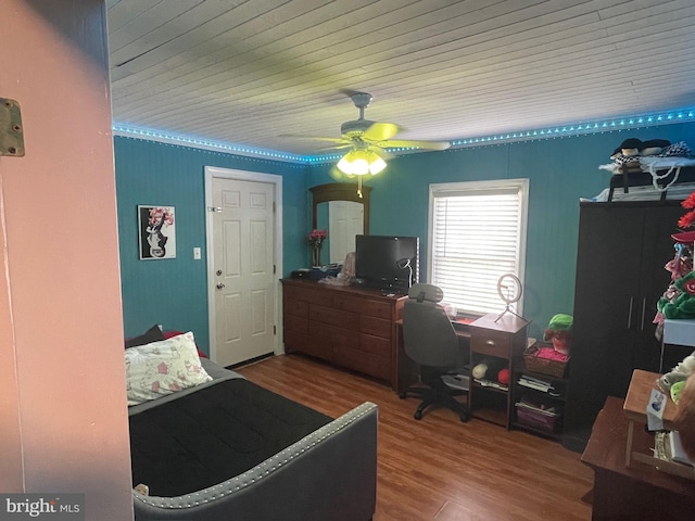
<instances>
[{"instance_id":1,"label":"arched brown-framed mirror standing on the dresser behind the television","mask_svg":"<svg viewBox=\"0 0 695 521\"><path fill-rule=\"evenodd\" d=\"M369 233L369 192L371 187L331 182L309 188L313 199L312 228L328 230L329 264L342 264L355 251L355 236Z\"/></svg>"}]
</instances>

